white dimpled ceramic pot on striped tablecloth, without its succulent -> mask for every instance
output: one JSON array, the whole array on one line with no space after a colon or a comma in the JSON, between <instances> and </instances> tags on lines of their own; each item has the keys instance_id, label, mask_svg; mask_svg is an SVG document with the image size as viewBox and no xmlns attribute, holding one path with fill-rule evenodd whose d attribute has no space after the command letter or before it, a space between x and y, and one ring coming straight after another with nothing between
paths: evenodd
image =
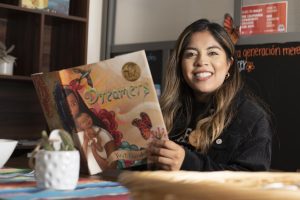
<instances>
[{"instance_id":1,"label":"white dimpled ceramic pot on striped tablecloth, without its succulent","mask_svg":"<svg viewBox=\"0 0 300 200\"><path fill-rule=\"evenodd\" d=\"M38 151L35 155L37 187L73 190L79 178L80 156L76 151Z\"/></svg>"}]
</instances>

